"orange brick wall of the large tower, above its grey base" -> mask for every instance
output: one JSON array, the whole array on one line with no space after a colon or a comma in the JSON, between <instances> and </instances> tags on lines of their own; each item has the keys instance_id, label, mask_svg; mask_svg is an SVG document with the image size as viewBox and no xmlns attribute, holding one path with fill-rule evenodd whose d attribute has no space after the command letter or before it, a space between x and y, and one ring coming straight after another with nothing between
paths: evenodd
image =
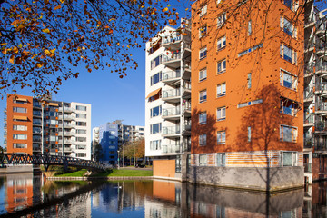
<instances>
[{"instance_id":1,"label":"orange brick wall of the large tower, above its grey base","mask_svg":"<svg viewBox=\"0 0 327 218\"><path fill-rule=\"evenodd\" d=\"M246 154L253 160L249 166L254 162L267 166L270 161L264 151L294 151L298 152L297 164L301 165L303 15L296 19L297 32L292 37L280 24L284 17L292 20L295 13L281 1L273 1L269 8L246 3L241 9L236 9L238 1L221 2L217 5L217 1L197 1L192 7L192 154L239 153L243 156L247 152L262 151L263 158ZM205 5L206 13L202 15ZM217 17L223 15L225 8L229 8L226 20L217 26ZM222 46L223 37L225 45ZM284 45L296 52L296 56L292 53L292 63L283 58L281 47L284 51ZM206 56L202 54L205 49ZM225 67L221 64L224 61ZM199 79L203 69L207 76ZM281 79L284 72L292 74L297 85L285 87ZM221 84L225 85L224 94L218 91ZM203 91L206 99L202 98ZM296 113L281 113L281 101L295 105ZM221 110L218 113L221 108L225 115L220 114ZM205 124L199 121L199 114L203 113L206 113ZM292 142L281 138L282 125L297 130ZM219 142L221 133L225 139ZM203 134L206 144L200 144ZM279 157L276 158L278 166ZM214 163L212 159L208 155L207 163ZM233 158L230 160L232 163ZM231 166L239 166L239 163Z\"/></svg>"}]
</instances>

